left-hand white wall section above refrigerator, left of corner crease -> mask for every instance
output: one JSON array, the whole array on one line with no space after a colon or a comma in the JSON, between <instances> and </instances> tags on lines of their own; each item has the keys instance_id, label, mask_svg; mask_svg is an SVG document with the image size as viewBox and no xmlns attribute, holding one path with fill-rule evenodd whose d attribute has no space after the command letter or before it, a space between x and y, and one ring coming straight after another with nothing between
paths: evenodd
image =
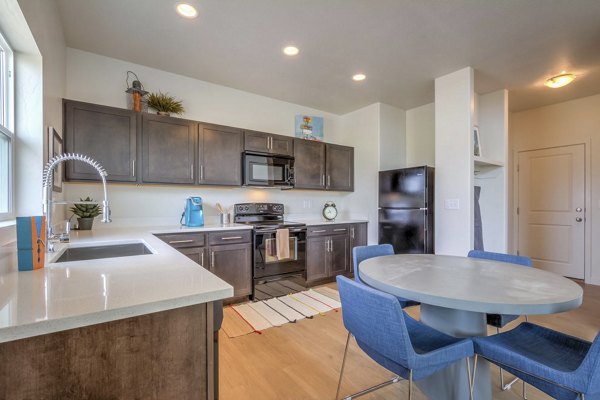
<instances>
[{"instance_id":1,"label":"left-hand white wall section above refrigerator, left of corner crease","mask_svg":"<svg viewBox=\"0 0 600 400\"><path fill-rule=\"evenodd\" d=\"M406 111L379 103L379 170L406 166Z\"/></svg>"}]
</instances>

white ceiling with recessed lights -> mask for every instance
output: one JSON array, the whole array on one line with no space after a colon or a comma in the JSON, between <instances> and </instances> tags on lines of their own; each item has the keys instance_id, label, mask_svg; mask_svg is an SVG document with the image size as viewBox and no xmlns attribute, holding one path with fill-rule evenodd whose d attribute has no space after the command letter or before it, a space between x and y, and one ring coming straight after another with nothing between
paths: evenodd
<instances>
[{"instance_id":1,"label":"white ceiling with recessed lights","mask_svg":"<svg viewBox=\"0 0 600 400\"><path fill-rule=\"evenodd\" d=\"M176 2L57 0L69 47L337 114L432 102L469 65L513 111L600 93L599 0L190 0L193 20ZM579 77L542 85L561 70Z\"/></svg>"}]
</instances>

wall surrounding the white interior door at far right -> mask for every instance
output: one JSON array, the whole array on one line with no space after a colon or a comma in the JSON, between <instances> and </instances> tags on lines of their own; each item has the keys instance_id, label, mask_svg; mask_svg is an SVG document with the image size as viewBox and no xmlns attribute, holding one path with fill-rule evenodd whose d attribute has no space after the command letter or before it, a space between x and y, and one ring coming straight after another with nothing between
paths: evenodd
<instances>
[{"instance_id":1,"label":"wall surrounding the white interior door at far right","mask_svg":"<svg viewBox=\"0 0 600 400\"><path fill-rule=\"evenodd\" d=\"M510 156L519 151L584 143L586 151L586 282L600 285L600 95L513 113ZM514 161L511 162L513 165ZM512 249L516 249L514 170L509 182Z\"/></svg>"}]
</instances>

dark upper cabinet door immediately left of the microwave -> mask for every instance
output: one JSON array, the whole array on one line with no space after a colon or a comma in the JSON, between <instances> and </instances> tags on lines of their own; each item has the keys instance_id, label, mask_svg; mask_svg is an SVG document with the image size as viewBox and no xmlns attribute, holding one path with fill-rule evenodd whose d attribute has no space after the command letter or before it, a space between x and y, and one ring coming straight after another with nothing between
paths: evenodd
<instances>
[{"instance_id":1,"label":"dark upper cabinet door immediately left of the microwave","mask_svg":"<svg viewBox=\"0 0 600 400\"><path fill-rule=\"evenodd\" d=\"M200 125L199 180L201 185L242 184L242 131Z\"/></svg>"}]
</instances>

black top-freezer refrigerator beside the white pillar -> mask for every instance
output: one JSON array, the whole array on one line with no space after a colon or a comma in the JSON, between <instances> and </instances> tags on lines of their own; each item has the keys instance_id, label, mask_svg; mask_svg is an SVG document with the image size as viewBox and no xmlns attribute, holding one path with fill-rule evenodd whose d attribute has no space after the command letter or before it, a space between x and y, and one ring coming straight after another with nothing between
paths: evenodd
<instances>
[{"instance_id":1,"label":"black top-freezer refrigerator beside the white pillar","mask_svg":"<svg viewBox=\"0 0 600 400\"><path fill-rule=\"evenodd\" d=\"M379 172L379 243L396 254L434 252L434 169Z\"/></svg>"}]
</instances>

